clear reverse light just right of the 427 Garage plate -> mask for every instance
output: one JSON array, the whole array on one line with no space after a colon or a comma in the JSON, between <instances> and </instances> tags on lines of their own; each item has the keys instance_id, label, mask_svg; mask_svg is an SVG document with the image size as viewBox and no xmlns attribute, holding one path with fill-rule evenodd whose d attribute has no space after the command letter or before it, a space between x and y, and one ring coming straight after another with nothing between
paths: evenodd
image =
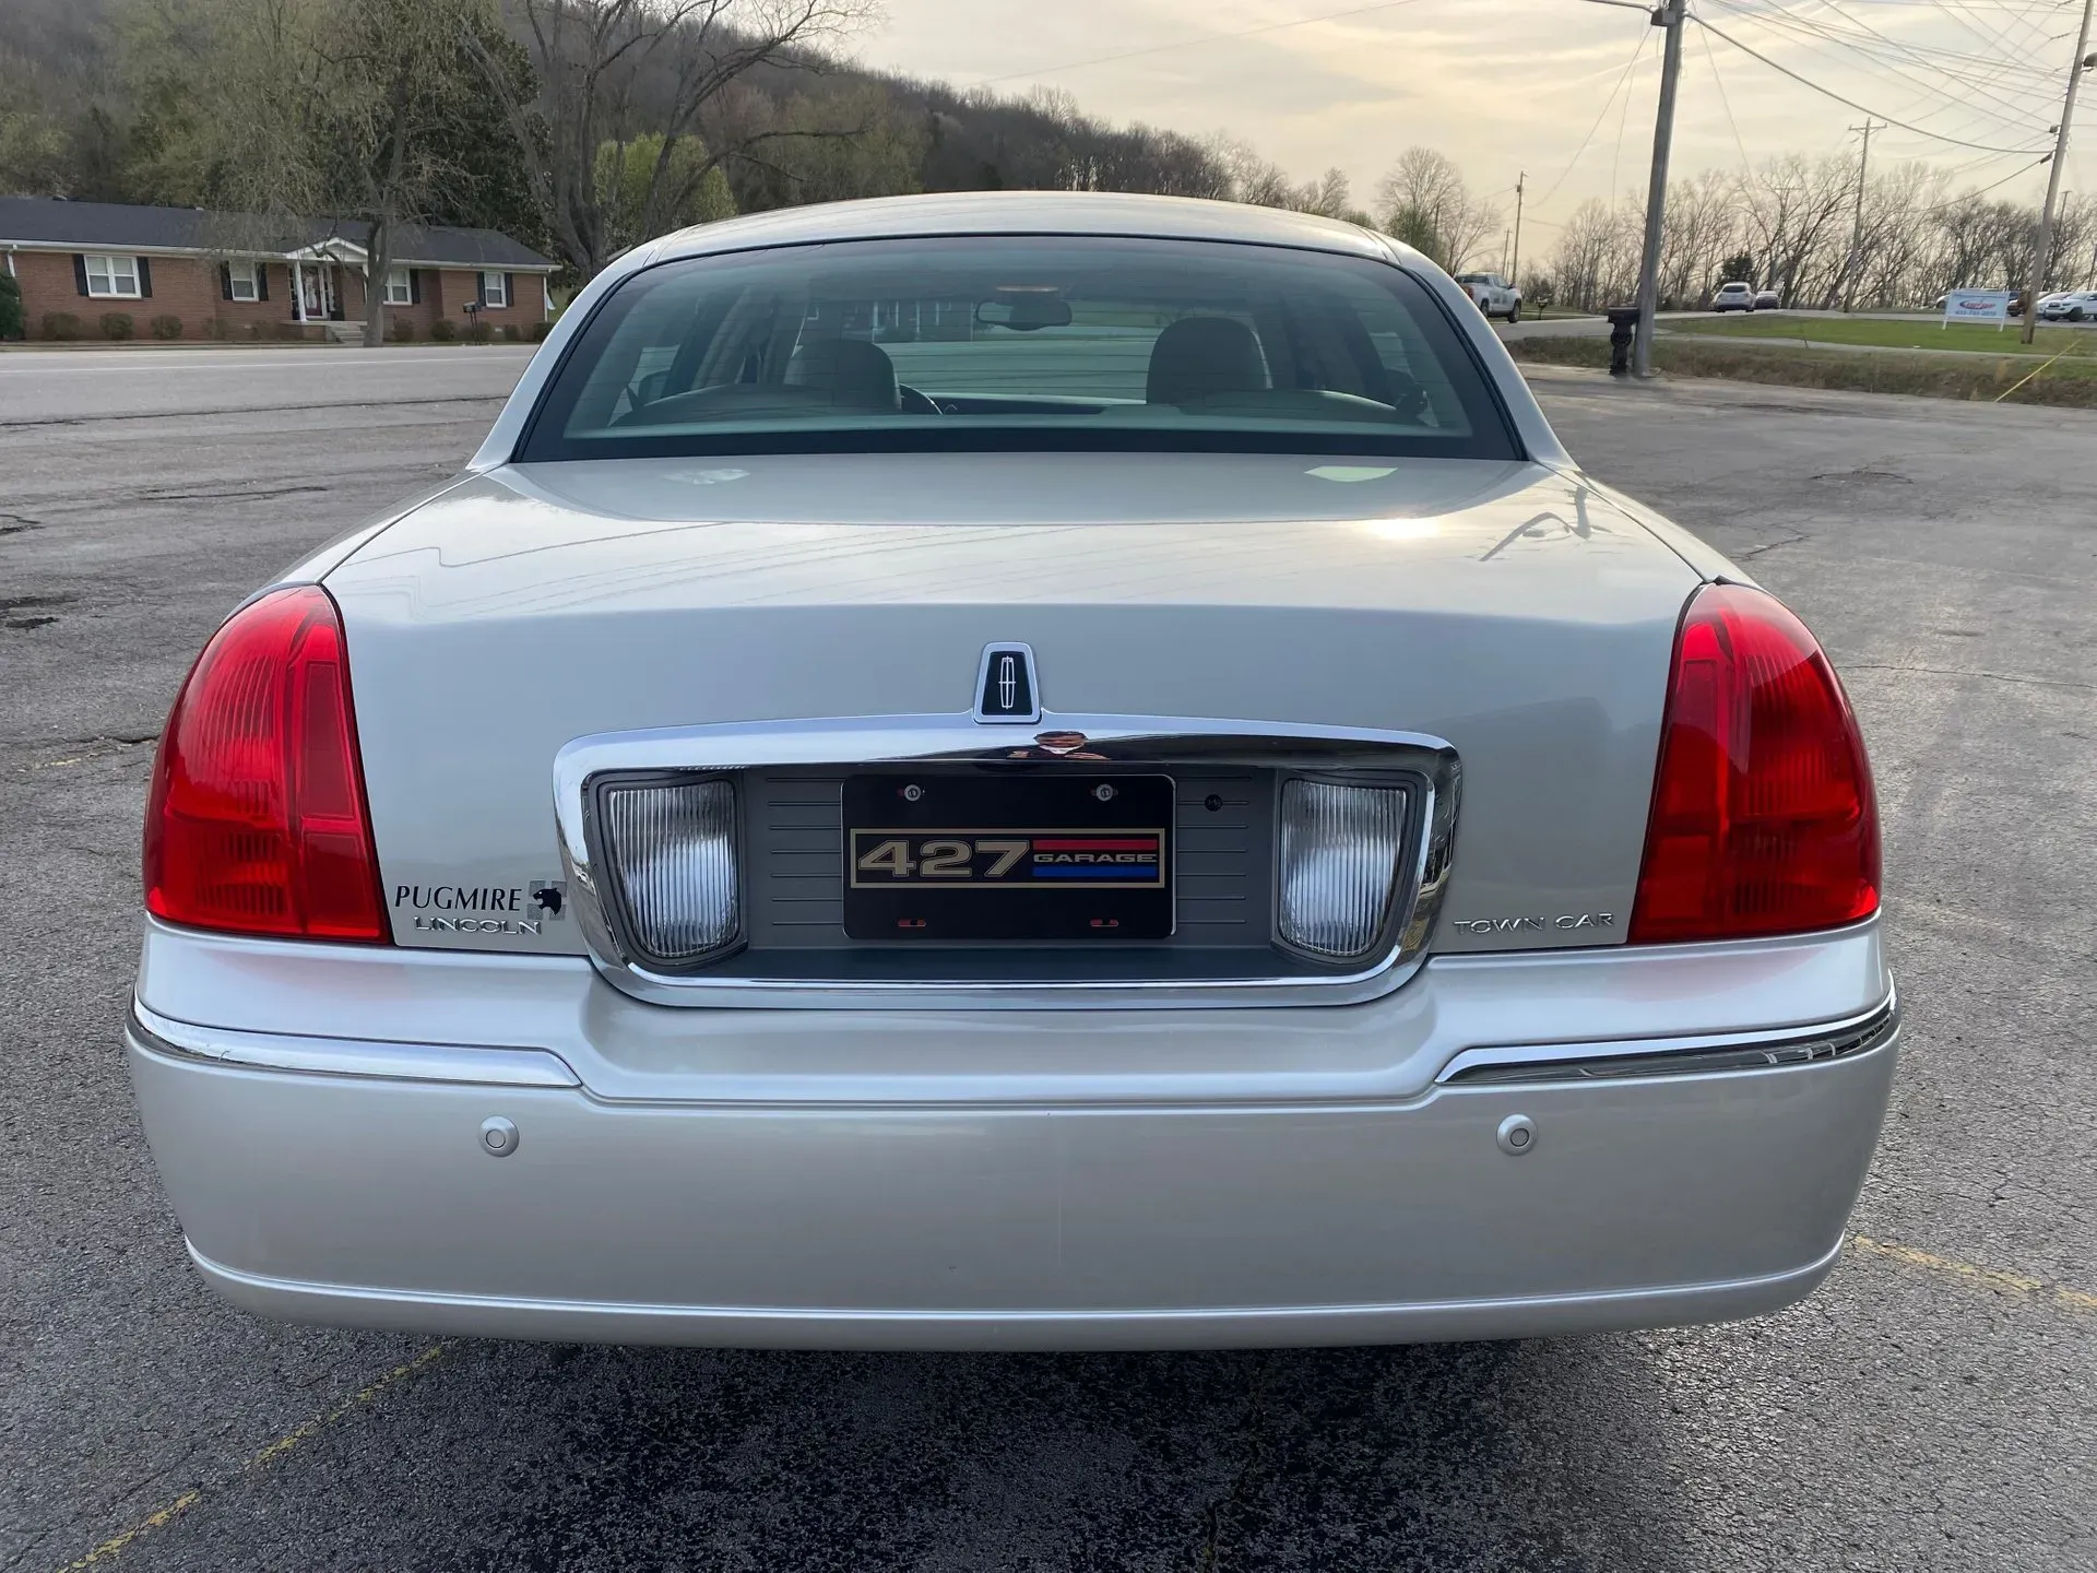
<instances>
[{"instance_id":1,"label":"clear reverse light just right of the 427 Garage plate","mask_svg":"<svg viewBox=\"0 0 2097 1573\"><path fill-rule=\"evenodd\" d=\"M1384 938L1405 849L1405 789L1290 780L1281 789L1281 942L1353 961Z\"/></svg>"}]
</instances>

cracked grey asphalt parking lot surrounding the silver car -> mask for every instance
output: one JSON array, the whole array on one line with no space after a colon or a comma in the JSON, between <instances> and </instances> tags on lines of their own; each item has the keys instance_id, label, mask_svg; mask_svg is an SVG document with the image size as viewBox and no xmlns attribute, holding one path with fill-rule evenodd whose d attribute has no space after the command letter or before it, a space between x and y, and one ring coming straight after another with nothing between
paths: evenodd
<instances>
[{"instance_id":1,"label":"cracked grey asphalt parking lot surrounding the silver car","mask_svg":"<svg viewBox=\"0 0 2097 1573\"><path fill-rule=\"evenodd\" d=\"M124 1076L136 833L250 587L524 357L0 357L0 1569L2097 1567L2097 415L1619 388L1571 449L1782 594L1879 768L1908 1036L1860 1240L1755 1323L776 1355L254 1321Z\"/></svg>"}]
</instances>

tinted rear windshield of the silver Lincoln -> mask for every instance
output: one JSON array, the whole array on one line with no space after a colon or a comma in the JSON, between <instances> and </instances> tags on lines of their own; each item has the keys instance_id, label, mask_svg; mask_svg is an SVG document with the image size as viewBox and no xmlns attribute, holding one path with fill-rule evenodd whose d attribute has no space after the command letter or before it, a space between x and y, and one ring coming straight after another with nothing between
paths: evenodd
<instances>
[{"instance_id":1,"label":"tinted rear windshield of the silver Lincoln","mask_svg":"<svg viewBox=\"0 0 2097 1573\"><path fill-rule=\"evenodd\" d=\"M1111 449L1518 457L1428 289L1273 245L946 237L667 262L520 459Z\"/></svg>"}]
</instances>

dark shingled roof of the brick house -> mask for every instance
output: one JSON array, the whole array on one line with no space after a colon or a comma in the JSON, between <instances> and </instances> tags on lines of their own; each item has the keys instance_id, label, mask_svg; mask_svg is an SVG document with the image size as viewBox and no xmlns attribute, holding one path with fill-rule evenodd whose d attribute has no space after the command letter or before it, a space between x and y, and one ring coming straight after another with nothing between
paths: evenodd
<instances>
[{"instance_id":1,"label":"dark shingled roof of the brick house","mask_svg":"<svg viewBox=\"0 0 2097 1573\"><path fill-rule=\"evenodd\" d=\"M371 227L356 218L266 218L203 208L138 208L122 201L0 197L0 245L107 245L134 252L289 256L325 241L363 252ZM552 273L558 264L493 229L401 224L394 262Z\"/></svg>"}]
</instances>

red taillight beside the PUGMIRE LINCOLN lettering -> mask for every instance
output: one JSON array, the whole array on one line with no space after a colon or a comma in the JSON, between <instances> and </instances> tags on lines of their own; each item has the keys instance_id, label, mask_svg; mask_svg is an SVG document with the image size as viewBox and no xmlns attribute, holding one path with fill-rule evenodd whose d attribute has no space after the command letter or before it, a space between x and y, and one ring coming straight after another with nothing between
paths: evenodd
<instances>
[{"instance_id":1,"label":"red taillight beside the PUGMIRE LINCOLN lettering","mask_svg":"<svg viewBox=\"0 0 2097 1573\"><path fill-rule=\"evenodd\" d=\"M145 904L168 923L384 940L336 602L277 589L212 635L159 736Z\"/></svg>"}]
</instances>

